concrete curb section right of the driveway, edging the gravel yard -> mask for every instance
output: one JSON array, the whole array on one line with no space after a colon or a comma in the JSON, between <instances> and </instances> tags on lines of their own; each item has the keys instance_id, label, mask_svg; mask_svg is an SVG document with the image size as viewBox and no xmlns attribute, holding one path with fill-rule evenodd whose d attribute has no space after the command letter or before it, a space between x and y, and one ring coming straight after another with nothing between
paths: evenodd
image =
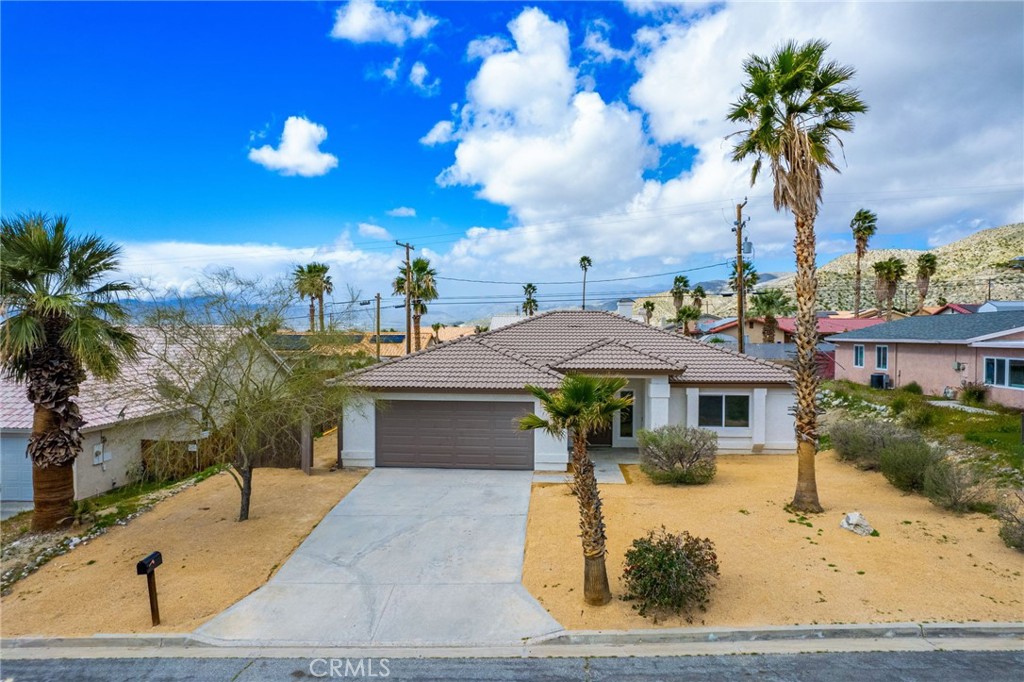
<instances>
[{"instance_id":1,"label":"concrete curb section right of the driveway, edging the gravel yard","mask_svg":"<svg viewBox=\"0 0 1024 682\"><path fill-rule=\"evenodd\" d=\"M554 644L682 644L813 639L894 639L898 637L1024 637L1024 623L880 623L769 626L753 628L667 628L664 630L577 630L529 642Z\"/></svg>"}]
</instances>

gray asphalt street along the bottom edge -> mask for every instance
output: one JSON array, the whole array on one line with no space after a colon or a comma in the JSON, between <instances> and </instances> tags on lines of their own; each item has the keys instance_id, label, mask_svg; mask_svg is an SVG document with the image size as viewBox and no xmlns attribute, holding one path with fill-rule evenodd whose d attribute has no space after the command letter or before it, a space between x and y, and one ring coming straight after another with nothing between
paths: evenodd
<instances>
[{"instance_id":1,"label":"gray asphalt street along the bottom edge","mask_svg":"<svg viewBox=\"0 0 1024 682\"><path fill-rule=\"evenodd\" d=\"M900 651L624 658L61 658L0 662L6 682L271 681L481 682L1020 682L1024 651Z\"/></svg>"}]
</instances>

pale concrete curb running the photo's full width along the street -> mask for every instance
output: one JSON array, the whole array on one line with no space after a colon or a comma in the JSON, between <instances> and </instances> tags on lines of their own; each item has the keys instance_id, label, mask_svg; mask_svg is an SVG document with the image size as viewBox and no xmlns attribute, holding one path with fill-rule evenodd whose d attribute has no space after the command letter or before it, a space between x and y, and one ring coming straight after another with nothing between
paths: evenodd
<instances>
[{"instance_id":1,"label":"pale concrete curb running the photo's full width along the street","mask_svg":"<svg viewBox=\"0 0 1024 682\"><path fill-rule=\"evenodd\" d=\"M884 623L861 625L822 625L822 626L772 626L753 628L671 628L665 630L578 630L563 631L530 639L525 642L510 644L509 649L557 645L611 645L631 646L636 644L697 644L709 642L770 642L800 640L830 640L830 639L1011 639L1024 638L1024 623ZM274 649L290 647L263 643L263 646ZM346 645L321 643L317 648L345 648ZM168 633L161 635L94 635L92 637L11 637L0 640L2 649L39 649L39 648L205 648L231 649L254 648L251 643L227 644L214 643L202 635L189 633ZM309 648L309 647L299 647ZM373 649L409 649L409 645L362 645L354 648ZM477 647L459 645L423 646L414 648L431 649L465 649L467 652ZM495 645L479 647L482 649L505 648Z\"/></svg>"}]
</instances>

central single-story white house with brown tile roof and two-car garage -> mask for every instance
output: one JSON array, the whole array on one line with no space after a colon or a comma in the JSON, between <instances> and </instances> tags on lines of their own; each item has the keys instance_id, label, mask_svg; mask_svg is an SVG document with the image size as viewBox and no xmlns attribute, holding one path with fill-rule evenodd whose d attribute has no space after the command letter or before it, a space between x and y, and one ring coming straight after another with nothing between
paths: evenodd
<instances>
[{"instance_id":1,"label":"central single-story white house with brown tile roof and two-car garage","mask_svg":"<svg viewBox=\"0 0 1024 682\"><path fill-rule=\"evenodd\" d=\"M564 471L568 441L516 419L542 414L526 384L556 389L569 373L625 377L634 404L595 445L635 447L641 428L687 424L722 452L792 453L793 375L613 312L540 313L348 376L367 394L340 429L345 466Z\"/></svg>"}]
</instances>

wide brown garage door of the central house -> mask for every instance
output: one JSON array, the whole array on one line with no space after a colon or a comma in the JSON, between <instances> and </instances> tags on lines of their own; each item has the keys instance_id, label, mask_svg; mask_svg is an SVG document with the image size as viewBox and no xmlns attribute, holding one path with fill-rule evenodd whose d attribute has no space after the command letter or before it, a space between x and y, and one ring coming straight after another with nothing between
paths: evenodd
<instances>
[{"instance_id":1,"label":"wide brown garage door of the central house","mask_svg":"<svg viewBox=\"0 0 1024 682\"><path fill-rule=\"evenodd\" d=\"M378 400L377 466L532 469L530 402Z\"/></svg>"}]
</instances>

